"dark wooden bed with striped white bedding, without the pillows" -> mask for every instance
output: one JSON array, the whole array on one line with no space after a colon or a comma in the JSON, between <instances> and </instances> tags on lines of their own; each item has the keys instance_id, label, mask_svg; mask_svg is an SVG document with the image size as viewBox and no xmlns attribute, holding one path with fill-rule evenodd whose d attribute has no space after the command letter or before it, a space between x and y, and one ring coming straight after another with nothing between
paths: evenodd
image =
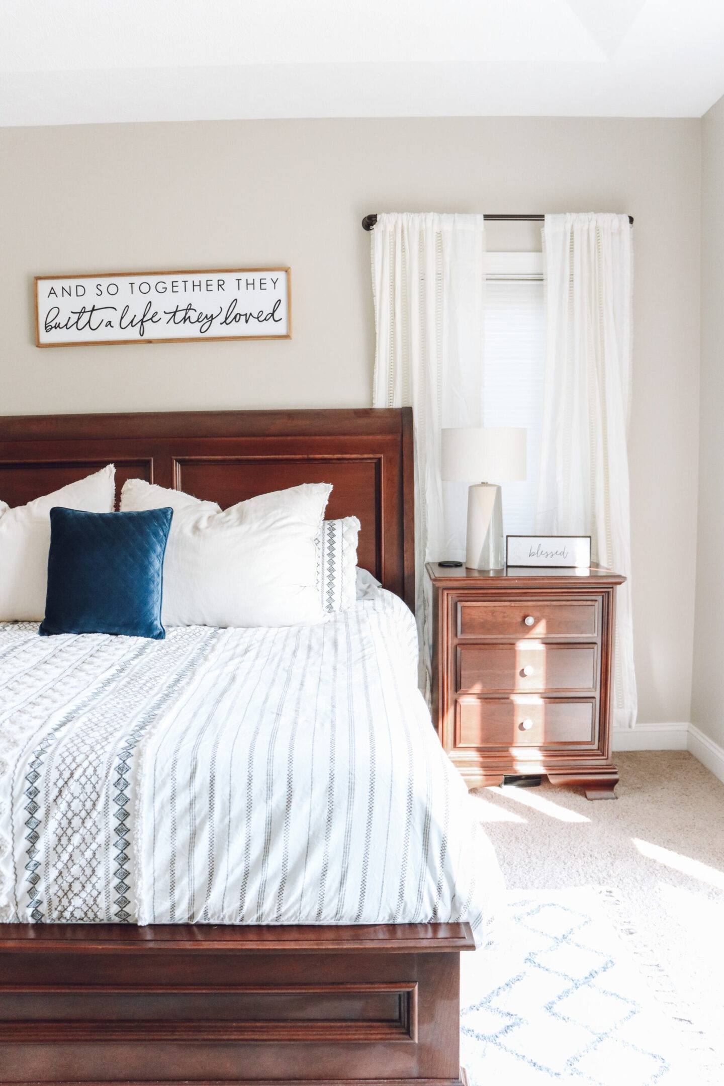
<instances>
[{"instance_id":1,"label":"dark wooden bed with striped white bedding, without the pillows","mask_svg":"<svg viewBox=\"0 0 724 1086\"><path fill-rule=\"evenodd\" d=\"M331 482L384 590L303 633L0 630L0 1082L460 1082L486 854L412 693L411 457L406 408L0 419L10 505L109 462L224 507Z\"/></svg>"}]
</instances>

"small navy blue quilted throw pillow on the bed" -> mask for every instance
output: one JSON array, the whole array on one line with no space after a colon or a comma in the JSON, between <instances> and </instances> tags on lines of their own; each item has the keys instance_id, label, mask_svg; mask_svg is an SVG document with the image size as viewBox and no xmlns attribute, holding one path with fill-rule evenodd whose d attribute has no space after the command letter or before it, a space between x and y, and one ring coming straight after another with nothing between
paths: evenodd
<instances>
[{"instance_id":1,"label":"small navy blue quilted throw pillow on the bed","mask_svg":"<svg viewBox=\"0 0 724 1086\"><path fill-rule=\"evenodd\" d=\"M164 554L174 510L50 510L46 617L52 633L119 633L161 641Z\"/></svg>"}]
</instances>

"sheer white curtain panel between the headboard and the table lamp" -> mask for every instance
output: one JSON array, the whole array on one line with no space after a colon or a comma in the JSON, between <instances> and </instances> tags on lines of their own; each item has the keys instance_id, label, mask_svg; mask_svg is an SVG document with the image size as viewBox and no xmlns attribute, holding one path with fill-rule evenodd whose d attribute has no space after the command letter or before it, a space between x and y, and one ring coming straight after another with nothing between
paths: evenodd
<instances>
[{"instance_id":1,"label":"sheer white curtain panel between the headboard and the table lamp","mask_svg":"<svg viewBox=\"0 0 724 1086\"><path fill-rule=\"evenodd\" d=\"M372 230L377 330L372 405L412 407L416 610L430 682L424 563L465 555L467 488L441 482L440 431L480 426L485 302L482 215L379 215Z\"/></svg>"}]
</instances>

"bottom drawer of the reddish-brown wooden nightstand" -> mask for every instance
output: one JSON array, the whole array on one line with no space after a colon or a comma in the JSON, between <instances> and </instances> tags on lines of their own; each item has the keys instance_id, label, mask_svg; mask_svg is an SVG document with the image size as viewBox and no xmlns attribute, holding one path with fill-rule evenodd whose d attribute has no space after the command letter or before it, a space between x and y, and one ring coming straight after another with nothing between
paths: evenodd
<instances>
[{"instance_id":1,"label":"bottom drawer of the reddish-brown wooden nightstand","mask_svg":"<svg viewBox=\"0 0 724 1086\"><path fill-rule=\"evenodd\" d=\"M547 746L596 740L595 700L459 698L458 747Z\"/></svg>"}]
</instances>

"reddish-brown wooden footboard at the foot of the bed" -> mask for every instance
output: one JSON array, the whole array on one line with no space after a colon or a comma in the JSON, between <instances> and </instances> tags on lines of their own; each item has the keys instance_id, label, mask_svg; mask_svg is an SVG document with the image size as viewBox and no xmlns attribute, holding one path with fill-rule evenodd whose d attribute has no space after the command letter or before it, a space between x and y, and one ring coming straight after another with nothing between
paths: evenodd
<instances>
[{"instance_id":1,"label":"reddish-brown wooden footboard at the foot of the bed","mask_svg":"<svg viewBox=\"0 0 724 1086\"><path fill-rule=\"evenodd\" d=\"M468 924L0 924L2 1083L460 1086Z\"/></svg>"}]
</instances>

